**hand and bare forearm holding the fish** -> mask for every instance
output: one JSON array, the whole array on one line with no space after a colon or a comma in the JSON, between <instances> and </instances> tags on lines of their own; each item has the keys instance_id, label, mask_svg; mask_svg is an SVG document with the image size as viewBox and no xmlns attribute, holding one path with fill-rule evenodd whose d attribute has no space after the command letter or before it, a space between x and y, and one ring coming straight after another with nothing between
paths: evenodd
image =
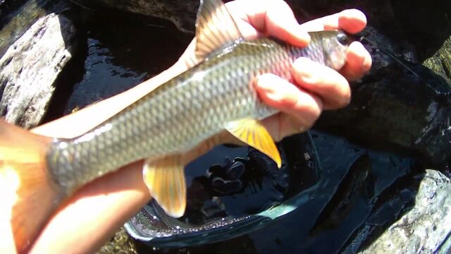
<instances>
[{"instance_id":1,"label":"hand and bare forearm holding the fish","mask_svg":"<svg viewBox=\"0 0 451 254\"><path fill-rule=\"evenodd\" d=\"M227 5L237 27L246 39L271 35L295 46L304 46L310 40L305 32L307 30L340 29L353 33L359 32L366 25L363 13L356 10L343 11L298 25L284 1L259 1L257 6L249 3L251 2L233 1ZM121 95L41 126L35 129L35 133L70 138L80 134L77 132L89 131L99 124L99 121L108 119L126 105L147 95L159 85L187 71L193 63L197 63L199 59L195 54L197 49L194 49L194 43L190 44L180 61L161 75ZM345 60L341 74L333 68L299 58L290 68L291 80L280 78L275 74L257 77L254 88L259 97L264 103L280 111L263 121L264 127L275 140L292 133L306 131L323 109L336 109L349 102L350 88L347 79L357 79L369 71L371 57L362 44L353 42L347 48ZM99 116L99 112L104 116ZM101 119L102 117L104 119ZM233 141L231 137L228 133L221 133L214 136L213 140L207 139L197 146L200 149L195 150L196 152L188 153L186 160L202 154L211 145ZM86 253L97 250L118 226L151 198L147 186L142 181L142 164L142 160L128 164L79 188L64 202L63 207L52 212L51 219L30 246L20 246L15 236L18 250L30 249L36 253L62 253L66 250ZM2 235L11 235L9 229L3 234L4 227L1 221L0 227ZM21 234L27 234L28 229L22 230ZM0 247L3 246L0 244Z\"/></svg>"}]
</instances>

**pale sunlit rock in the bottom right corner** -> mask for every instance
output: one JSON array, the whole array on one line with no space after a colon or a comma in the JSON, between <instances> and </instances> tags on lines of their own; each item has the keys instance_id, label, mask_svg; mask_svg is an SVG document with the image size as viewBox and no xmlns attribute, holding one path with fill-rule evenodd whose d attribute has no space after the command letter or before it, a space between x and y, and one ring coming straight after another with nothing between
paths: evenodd
<instances>
[{"instance_id":1,"label":"pale sunlit rock in the bottom right corner","mask_svg":"<svg viewBox=\"0 0 451 254\"><path fill-rule=\"evenodd\" d=\"M415 205L360 253L436 253L451 232L451 181L426 170Z\"/></svg>"}]
</instances>

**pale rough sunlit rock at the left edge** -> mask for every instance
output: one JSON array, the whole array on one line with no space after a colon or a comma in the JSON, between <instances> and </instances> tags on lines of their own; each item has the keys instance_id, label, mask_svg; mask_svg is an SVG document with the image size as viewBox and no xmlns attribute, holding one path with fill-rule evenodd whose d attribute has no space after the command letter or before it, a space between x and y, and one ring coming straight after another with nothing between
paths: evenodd
<instances>
[{"instance_id":1,"label":"pale rough sunlit rock at the left edge","mask_svg":"<svg viewBox=\"0 0 451 254\"><path fill-rule=\"evenodd\" d=\"M0 115L25 128L42 119L54 82L75 49L75 27L63 14L40 18L0 59Z\"/></svg>"}]
</instances>

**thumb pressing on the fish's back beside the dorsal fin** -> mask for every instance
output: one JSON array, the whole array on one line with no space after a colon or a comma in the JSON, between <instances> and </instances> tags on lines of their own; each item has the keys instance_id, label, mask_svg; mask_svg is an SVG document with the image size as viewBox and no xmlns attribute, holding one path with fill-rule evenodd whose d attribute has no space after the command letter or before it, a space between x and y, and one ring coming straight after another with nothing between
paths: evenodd
<instances>
[{"instance_id":1,"label":"thumb pressing on the fish's back beside the dorsal fin","mask_svg":"<svg viewBox=\"0 0 451 254\"><path fill-rule=\"evenodd\" d=\"M246 6L249 5L249 6ZM285 1L233 1L228 3L228 9L232 13L241 13L240 16L250 23L254 30L261 34L277 37L298 47L309 44L309 34L301 28L290 6ZM242 13L242 9L248 10ZM252 31L238 23L240 31L245 37L253 37Z\"/></svg>"}]
</instances>

